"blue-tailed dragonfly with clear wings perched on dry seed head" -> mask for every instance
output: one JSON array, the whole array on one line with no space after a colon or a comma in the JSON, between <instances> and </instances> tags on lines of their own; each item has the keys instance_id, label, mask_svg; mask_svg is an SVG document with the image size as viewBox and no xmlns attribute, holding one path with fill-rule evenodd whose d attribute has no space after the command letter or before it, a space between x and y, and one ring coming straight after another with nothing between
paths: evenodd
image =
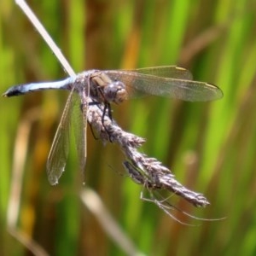
<instances>
[{"instance_id":1,"label":"blue-tailed dragonfly with clear wings perched on dry seed head","mask_svg":"<svg viewBox=\"0 0 256 256\"><path fill-rule=\"evenodd\" d=\"M89 70L60 81L20 84L9 88L3 96L20 96L38 90L71 90L47 160L49 183L58 183L67 164L71 126L79 155L79 168L84 174L86 162L87 109L102 104L110 119L112 103L145 95L166 96L189 102L217 100L223 96L214 84L194 81L183 67L146 67L134 70ZM89 100L90 99L90 100Z\"/></svg>"}]
</instances>

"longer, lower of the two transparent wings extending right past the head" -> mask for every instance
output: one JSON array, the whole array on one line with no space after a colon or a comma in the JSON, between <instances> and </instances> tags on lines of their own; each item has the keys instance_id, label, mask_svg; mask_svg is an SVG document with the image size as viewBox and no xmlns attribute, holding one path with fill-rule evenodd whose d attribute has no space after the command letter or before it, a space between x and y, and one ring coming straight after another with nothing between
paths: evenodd
<instances>
[{"instance_id":1,"label":"longer, lower of the two transparent wings extending right past the head","mask_svg":"<svg viewBox=\"0 0 256 256\"><path fill-rule=\"evenodd\" d=\"M129 96L151 94L167 96L189 102L212 101L223 96L222 91L213 84L186 79L171 79L161 76L129 72L106 71L110 79L122 81Z\"/></svg>"}]
</instances>

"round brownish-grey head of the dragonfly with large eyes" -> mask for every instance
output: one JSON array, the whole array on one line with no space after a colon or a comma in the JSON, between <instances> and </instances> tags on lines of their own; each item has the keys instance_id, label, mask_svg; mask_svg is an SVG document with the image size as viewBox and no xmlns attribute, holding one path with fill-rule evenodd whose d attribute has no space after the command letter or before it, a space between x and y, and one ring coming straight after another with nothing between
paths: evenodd
<instances>
[{"instance_id":1,"label":"round brownish-grey head of the dragonfly with large eyes","mask_svg":"<svg viewBox=\"0 0 256 256\"><path fill-rule=\"evenodd\" d=\"M104 87L104 96L107 102L119 104L127 99L125 84L120 81L113 81Z\"/></svg>"}]
</instances>

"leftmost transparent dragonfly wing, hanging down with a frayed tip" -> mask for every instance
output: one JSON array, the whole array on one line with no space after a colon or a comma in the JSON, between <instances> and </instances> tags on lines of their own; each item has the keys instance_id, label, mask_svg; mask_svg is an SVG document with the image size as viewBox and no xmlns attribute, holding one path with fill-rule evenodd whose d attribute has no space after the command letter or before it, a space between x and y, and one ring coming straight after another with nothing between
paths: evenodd
<instances>
[{"instance_id":1,"label":"leftmost transparent dragonfly wing, hanging down with a frayed tip","mask_svg":"<svg viewBox=\"0 0 256 256\"><path fill-rule=\"evenodd\" d=\"M72 90L67 98L67 103L61 116L61 122L55 133L54 142L49 151L47 160L47 175L49 183L58 183L62 172L65 170L67 156L70 147L71 119L73 113L73 102L76 102L77 94Z\"/></svg>"}]
</instances>

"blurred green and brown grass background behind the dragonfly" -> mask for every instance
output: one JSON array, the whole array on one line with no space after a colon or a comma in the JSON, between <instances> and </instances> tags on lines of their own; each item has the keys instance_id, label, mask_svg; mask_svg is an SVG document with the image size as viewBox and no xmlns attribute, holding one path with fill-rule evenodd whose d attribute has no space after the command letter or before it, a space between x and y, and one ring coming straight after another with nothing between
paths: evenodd
<instances>
[{"instance_id":1,"label":"blurred green and brown grass background behind the dragonfly","mask_svg":"<svg viewBox=\"0 0 256 256\"><path fill-rule=\"evenodd\" d=\"M147 138L144 153L161 160L180 183L211 202L195 209L180 200L178 207L201 218L224 220L195 223L185 218L199 225L182 225L154 204L140 201L142 187L119 175L124 160L119 148L102 146L90 131L86 186L101 196L138 252L255 255L255 1L29 4L76 72L179 65L189 68L196 80L218 84L224 91L220 101L148 97L114 107L113 117L126 131ZM1 91L13 84L64 77L60 63L18 6L2 0ZM21 242L26 237L49 255L126 255L79 199L83 186L74 147L59 185L52 187L47 181L47 155L66 99L63 91L0 99L1 255L30 255ZM12 197L10 191L15 191ZM10 203L14 207L8 212ZM19 235L9 228L15 213Z\"/></svg>"}]
</instances>

